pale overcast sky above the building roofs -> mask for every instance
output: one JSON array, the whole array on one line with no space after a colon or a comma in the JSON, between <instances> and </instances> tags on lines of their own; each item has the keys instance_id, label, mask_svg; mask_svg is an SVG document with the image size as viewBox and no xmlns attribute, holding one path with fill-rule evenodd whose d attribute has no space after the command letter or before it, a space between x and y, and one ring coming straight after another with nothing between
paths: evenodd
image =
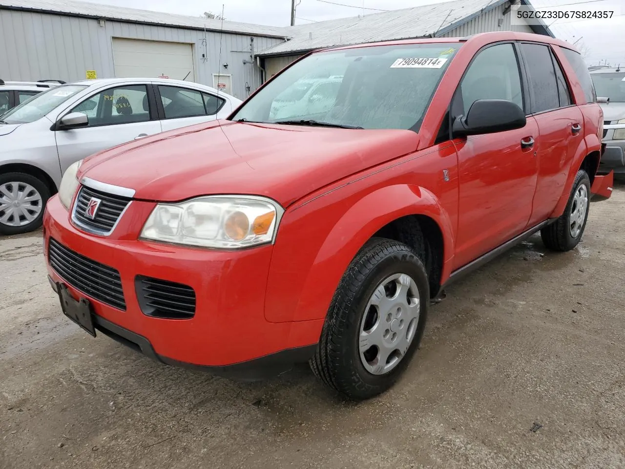
<instances>
[{"instance_id":1,"label":"pale overcast sky above the building roofs","mask_svg":"<svg viewBox=\"0 0 625 469\"><path fill-rule=\"evenodd\" d=\"M224 6L224 16L231 21L244 23L268 24L272 26L288 26L291 21L291 0L89 0L95 3L141 8L167 13L188 14L199 16L204 11L221 14ZM349 8L320 0L301 0L297 7L296 24L325 19L345 18L358 14L376 13L374 9L390 10L411 8L413 6L442 3L434 0L329 0L358 8ZM611 19L570 20L562 19L551 25L556 37L565 41L581 40L576 46L581 46L589 64L608 63L625 64L625 2L622 0L532 0L538 8L554 5L577 4L575 9L612 10ZM622 4L622 6L621 6ZM362 6L365 9L362 9ZM549 23L547 23L549 24Z\"/></svg>"}]
</instances>

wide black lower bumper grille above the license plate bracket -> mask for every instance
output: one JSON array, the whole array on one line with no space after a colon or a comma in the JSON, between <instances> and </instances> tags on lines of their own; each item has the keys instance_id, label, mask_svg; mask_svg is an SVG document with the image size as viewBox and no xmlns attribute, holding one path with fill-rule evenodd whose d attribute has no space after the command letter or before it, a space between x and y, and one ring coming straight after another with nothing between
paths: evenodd
<instances>
[{"instance_id":1,"label":"wide black lower bumper grille above the license plate bracket","mask_svg":"<svg viewBox=\"0 0 625 469\"><path fill-rule=\"evenodd\" d=\"M126 311L119 272L50 238L48 260L52 268L76 290L105 305Z\"/></svg>"}]
</instances>

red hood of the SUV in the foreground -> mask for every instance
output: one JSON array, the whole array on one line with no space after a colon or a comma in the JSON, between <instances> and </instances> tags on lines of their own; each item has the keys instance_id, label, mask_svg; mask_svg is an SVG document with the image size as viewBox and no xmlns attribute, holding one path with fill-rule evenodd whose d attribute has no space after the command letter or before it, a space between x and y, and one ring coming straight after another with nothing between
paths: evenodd
<instances>
[{"instance_id":1,"label":"red hood of the SUV in the foreground","mask_svg":"<svg viewBox=\"0 0 625 469\"><path fill-rule=\"evenodd\" d=\"M338 179L411 153L418 142L409 130L222 121L109 149L84 161L79 176L135 189L138 199L253 194L287 206Z\"/></svg>"}]
</instances>

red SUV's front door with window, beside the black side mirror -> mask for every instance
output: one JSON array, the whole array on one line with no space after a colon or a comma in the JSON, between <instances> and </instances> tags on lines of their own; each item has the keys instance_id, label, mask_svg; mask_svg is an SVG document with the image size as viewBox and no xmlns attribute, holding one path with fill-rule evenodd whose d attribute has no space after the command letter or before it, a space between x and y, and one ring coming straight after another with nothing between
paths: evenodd
<instances>
[{"instance_id":1,"label":"red SUV's front door with window, beside the black side mirror","mask_svg":"<svg viewBox=\"0 0 625 469\"><path fill-rule=\"evenodd\" d=\"M524 109L516 48L499 43L479 51L454 94L451 114L466 115L477 99L505 99ZM524 231L532 212L538 126L454 139L459 207L454 268L460 268Z\"/></svg>"}]
</instances>

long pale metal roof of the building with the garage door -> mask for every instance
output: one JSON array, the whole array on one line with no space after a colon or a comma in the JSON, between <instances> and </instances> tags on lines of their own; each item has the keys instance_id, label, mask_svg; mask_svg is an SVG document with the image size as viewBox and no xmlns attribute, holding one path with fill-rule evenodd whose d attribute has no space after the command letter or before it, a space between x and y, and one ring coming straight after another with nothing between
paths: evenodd
<instances>
[{"instance_id":1,"label":"long pale metal roof of the building with the garage door","mask_svg":"<svg viewBox=\"0 0 625 469\"><path fill-rule=\"evenodd\" d=\"M221 31L222 28L222 22L219 19L201 18L201 16L197 16L196 18L195 16L123 8L76 0L0 0L0 9L66 14L68 16L81 16L83 18L132 21L133 23L175 26L187 29L207 29L210 31ZM236 21L224 21L223 31L224 33L252 34L254 36L287 37L284 28L237 23Z\"/></svg>"}]
</instances>

